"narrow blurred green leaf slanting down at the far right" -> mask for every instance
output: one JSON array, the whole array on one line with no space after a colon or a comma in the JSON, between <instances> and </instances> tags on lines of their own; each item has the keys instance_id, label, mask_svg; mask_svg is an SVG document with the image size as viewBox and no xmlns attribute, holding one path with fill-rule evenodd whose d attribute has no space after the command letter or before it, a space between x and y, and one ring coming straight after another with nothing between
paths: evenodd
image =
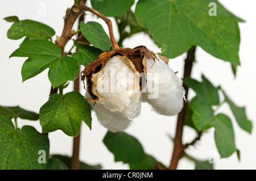
<instances>
[{"instance_id":1,"label":"narrow blurred green leaf slanting down at the far right","mask_svg":"<svg viewBox=\"0 0 256 181\"><path fill-rule=\"evenodd\" d=\"M225 102L229 104L229 107L231 111L233 112L234 117L237 120L238 125L243 130L247 131L248 133L251 133L252 129L252 123L250 120L247 119L246 113L245 113L245 107L237 107L236 104L232 102L232 100L229 99L229 97L225 94L225 92L222 90Z\"/></svg>"}]
</instances>

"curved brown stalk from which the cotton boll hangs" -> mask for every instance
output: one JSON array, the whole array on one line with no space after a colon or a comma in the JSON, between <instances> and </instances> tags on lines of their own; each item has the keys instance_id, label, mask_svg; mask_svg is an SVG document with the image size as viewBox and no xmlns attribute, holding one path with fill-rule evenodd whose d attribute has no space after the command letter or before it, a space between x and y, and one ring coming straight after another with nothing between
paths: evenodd
<instances>
[{"instance_id":1,"label":"curved brown stalk from which the cotton boll hangs","mask_svg":"<svg viewBox=\"0 0 256 181\"><path fill-rule=\"evenodd\" d=\"M109 28L109 37L110 37L110 41L113 45L113 48L114 50L115 49L120 49L120 47L118 46L117 42L115 41L115 38L114 38L114 33L113 33L113 27L112 27L112 22L109 18L106 18L106 16L100 14L100 12L96 11L96 10L93 10L91 9L90 7L87 7L85 5L82 6L81 10L85 10L85 11L90 11L92 12L93 14L97 15L98 17L100 17L101 19L104 20L104 22L108 25L108 28Z\"/></svg>"}]
</instances>

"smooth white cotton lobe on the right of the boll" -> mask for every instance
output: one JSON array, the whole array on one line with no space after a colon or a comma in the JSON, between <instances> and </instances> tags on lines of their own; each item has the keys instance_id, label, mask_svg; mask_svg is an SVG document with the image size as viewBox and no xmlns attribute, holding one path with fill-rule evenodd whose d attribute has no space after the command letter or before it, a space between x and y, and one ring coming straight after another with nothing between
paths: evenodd
<instances>
[{"instance_id":1,"label":"smooth white cotton lobe on the right of the boll","mask_svg":"<svg viewBox=\"0 0 256 181\"><path fill-rule=\"evenodd\" d=\"M153 109L161 115L176 115L183 108L183 98L185 99L185 91L181 82L177 78L174 71L160 58L152 60L147 58L147 87L146 92L142 94L143 101L147 101ZM150 92L150 86L156 86L157 92ZM153 90L154 90L153 89ZM158 95L157 98L150 99L153 94ZM154 97L154 96L153 96Z\"/></svg>"}]
</instances>

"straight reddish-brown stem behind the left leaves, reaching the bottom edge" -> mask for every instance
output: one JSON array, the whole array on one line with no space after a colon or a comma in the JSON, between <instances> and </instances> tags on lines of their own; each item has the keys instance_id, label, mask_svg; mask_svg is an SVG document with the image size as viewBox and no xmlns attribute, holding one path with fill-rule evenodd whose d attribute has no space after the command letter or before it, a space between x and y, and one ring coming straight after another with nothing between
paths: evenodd
<instances>
[{"instance_id":1,"label":"straight reddish-brown stem behind the left leaves, reaching the bottom edge","mask_svg":"<svg viewBox=\"0 0 256 181\"><path fill-rule=\"evenodd\" d=\"M84 22L84 15L81 15L79 18L79 24L80 22ZM80 28L80 26L79 26ZM77 37L80 37L81 31L78 33ZM77 49L76 49L77 51ZM74 80L74 91L80 91L80 68L78 76ZM81 131L80 131L81 133ZM71 158L70 163L70 169L71 170L79 170L80 169L80 161L79 161L79 150L80 150L80 133L73 138L73 154Z\"/></svg>"}]
</instances>

